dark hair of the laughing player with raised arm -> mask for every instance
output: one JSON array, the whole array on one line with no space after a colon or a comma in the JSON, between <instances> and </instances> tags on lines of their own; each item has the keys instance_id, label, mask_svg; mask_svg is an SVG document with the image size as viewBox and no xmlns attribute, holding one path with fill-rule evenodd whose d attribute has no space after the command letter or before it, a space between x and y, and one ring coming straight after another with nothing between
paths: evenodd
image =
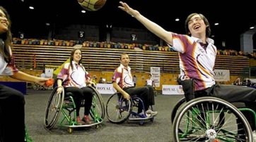
<instances>
[{"instance_id":1,"label":"dark hair of the laughing player with raised arm","mask_svg":"<svg viewBox=\"0 0 256 142\"><path fill-rule=\"evenodd\" d=\"M210 23L207 20L207 18L204 17L204 15L202 15L201 13L192 13L190 15L187 16L187 19L185 20L185 30L187 35L191 35L190 30L188 30L188 22L190 22L190 19L194 16L194 15L199 15L200 18L202 18L202 20L204 20L204 24L208 25L206 27L206 37L210 37L211 35L211 28L210 28Z\"/></svg>"}]
</instances>

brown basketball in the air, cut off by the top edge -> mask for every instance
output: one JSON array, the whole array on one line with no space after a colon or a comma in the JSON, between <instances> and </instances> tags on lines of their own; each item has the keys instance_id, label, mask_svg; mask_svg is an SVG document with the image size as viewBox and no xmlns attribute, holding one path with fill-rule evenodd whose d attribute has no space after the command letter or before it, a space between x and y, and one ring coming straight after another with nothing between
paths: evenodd
<instances>
[{"instance_id":1,"label":"brown basketball in the air, cut off by the top edge","mask_svg":"<svg viewBox=\"0 0 256 142\"><path fill-rule=\"evenodd\" d=\"M77 0L78 4L86 11L98 11L102 8L107 0Z\"/></svg>"}]
</instances>

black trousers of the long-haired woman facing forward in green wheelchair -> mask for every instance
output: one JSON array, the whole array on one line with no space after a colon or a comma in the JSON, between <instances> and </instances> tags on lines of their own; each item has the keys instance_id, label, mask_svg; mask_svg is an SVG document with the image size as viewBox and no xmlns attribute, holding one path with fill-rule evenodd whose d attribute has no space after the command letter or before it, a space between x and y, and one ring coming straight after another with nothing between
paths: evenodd
<instances>
[{"instance_id":1,"label":"black trousers of the long-haired woman facing forward in green wheelchair","mask_svg":"<svg viewBox=\"0 0 256 142\"><path fill-rule=\"evenodd\" d=\"M84 112L83 115L89 115L91 104L93 102L93 90L88 87L83 87L81 89L77 87L65 87L64 88L65 93L71 92L73 93L73 98L76 105L76 116L79 116L79 111L81 108L81 101L84 99Z\"/></svg>"}]
</instances>

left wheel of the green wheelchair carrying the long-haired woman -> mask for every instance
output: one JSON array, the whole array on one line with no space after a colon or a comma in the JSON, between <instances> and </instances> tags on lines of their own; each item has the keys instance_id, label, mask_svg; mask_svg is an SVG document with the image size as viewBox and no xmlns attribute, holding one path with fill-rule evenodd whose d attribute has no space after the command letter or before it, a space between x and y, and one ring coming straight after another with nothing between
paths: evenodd
<instances>
[{"instance_id":1,"label":"left wheel of the green wheelchair carrying the long-haired woman","mask_svg":"<svg viewBox=\"0 0 256 142\"><path fill-rule=\"evenodd\" d=\"M52 129L54 124L56 124L60 112L62 110L62 104L64 101L64 89L62 88L62 93L57 93L58 87L55 87L50 95L49 101L45 108L45 127L47 129Z\"/></svg>"}]
</instances>

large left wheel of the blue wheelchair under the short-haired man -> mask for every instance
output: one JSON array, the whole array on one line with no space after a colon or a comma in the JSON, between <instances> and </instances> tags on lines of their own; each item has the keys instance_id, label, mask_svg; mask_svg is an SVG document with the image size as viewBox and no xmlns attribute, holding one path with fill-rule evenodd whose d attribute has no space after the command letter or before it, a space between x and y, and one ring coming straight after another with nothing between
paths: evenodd
<instances>
[{"instance_id":1,"label":"large left wheel of the blue wheelchair under the short-haired man","mask_svg":"<svg viewBox=\"0 0 256 142\"><path fill-rule=\"evenodd\" d=\"M116 124L120 124L129 119L132 113L132 98L127 101L121 93L114 93L107 100L107 119Z\"/></svg>"}]
</instances>

